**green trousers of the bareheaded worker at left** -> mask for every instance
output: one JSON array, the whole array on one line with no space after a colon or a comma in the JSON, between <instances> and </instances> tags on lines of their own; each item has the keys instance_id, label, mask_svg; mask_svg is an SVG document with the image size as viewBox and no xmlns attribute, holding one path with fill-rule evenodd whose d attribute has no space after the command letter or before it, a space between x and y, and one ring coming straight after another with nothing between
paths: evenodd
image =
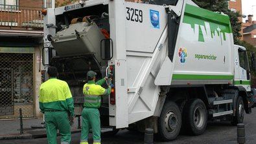
<instances>
[{"instance_id":1,"label":"green trousers of the bareheaded worker at left","mask_svg":"<svg viewBox=\"0 0 256 144\"><path fill-rule=\"evenodd\" d=\"M59 130L61 144L69 144L71 141L71 130L67 112L45 112L45 124L48 144L57 144L57 130Z\"/></svg>"}]
</instances>

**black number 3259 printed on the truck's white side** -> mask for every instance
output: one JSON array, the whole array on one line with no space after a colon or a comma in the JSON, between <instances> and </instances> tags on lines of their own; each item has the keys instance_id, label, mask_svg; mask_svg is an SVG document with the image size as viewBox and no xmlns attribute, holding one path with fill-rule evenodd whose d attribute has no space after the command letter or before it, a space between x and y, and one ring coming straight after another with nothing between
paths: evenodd
<instances>
[{"instance_id":1,"label":"black number 3259 printed on the truck's white side","mask_svg":"<svg viewBox=\"0 0 256 144\"><path fill-rule=\"evenodd\" d=\"M142 10L138 10L135 8L128 8L128 7L126 7L126 10L127 10L126 19L128 21L135 21L135 22L143 23Z\"/></svg>"}]
</instances>

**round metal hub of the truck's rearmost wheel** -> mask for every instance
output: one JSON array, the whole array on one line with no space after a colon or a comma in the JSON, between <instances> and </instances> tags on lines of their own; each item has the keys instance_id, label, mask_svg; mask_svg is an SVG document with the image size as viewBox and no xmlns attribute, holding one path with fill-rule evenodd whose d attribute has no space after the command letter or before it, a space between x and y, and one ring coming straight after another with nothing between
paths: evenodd
<instances>
[{"instance_id":1,"label":"round metal hub of the truck's rearmost wheel","mask_svg":"<svg viewBox=\"0 0 256 144\"><path fill-rule=\"evenodd\" d=\"M167 112L165 116L165 128L169 132L173 132L176 129L177 125L178 125L178 118L176 114L174 114L171 111Z\"/></svg>"}]
</instances>

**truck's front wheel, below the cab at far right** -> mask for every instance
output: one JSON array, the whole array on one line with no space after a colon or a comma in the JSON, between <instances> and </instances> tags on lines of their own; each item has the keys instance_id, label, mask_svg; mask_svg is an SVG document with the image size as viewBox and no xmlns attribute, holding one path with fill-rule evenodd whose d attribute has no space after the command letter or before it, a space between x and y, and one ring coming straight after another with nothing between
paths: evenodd
<instances>
[{"instance_id":1,"label":"truck's front wheel, below the cab at far right","mask_svg":"<svg viewBox=\"0 0 256 144\"><path fill-rule=\"evenodd\" d=\"M244 102L242 101L242 97L237 98L237 105L235 108L235 116L231 121L232 125L237 125L238 123L242 123L244 121Z\"/></svg>"}]
</instances>

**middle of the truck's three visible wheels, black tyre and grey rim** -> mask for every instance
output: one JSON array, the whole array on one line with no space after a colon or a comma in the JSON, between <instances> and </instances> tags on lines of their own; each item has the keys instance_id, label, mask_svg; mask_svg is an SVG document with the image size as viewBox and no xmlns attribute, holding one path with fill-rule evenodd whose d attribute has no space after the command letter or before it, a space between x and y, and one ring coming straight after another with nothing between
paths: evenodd
<instances>
[{"instance_id":1,"label":"middle of the truck's three visible wheels, black tyre and grey rim","mask_svg":"<svg viewBox=\"0 0 256 144\"><path fill-rule=\"evenodd\" d=\"M190 99L183 108L182 126L188 134L198 136L205 132L207 110L201 99Z\"/></svg>"}]
</instances>

